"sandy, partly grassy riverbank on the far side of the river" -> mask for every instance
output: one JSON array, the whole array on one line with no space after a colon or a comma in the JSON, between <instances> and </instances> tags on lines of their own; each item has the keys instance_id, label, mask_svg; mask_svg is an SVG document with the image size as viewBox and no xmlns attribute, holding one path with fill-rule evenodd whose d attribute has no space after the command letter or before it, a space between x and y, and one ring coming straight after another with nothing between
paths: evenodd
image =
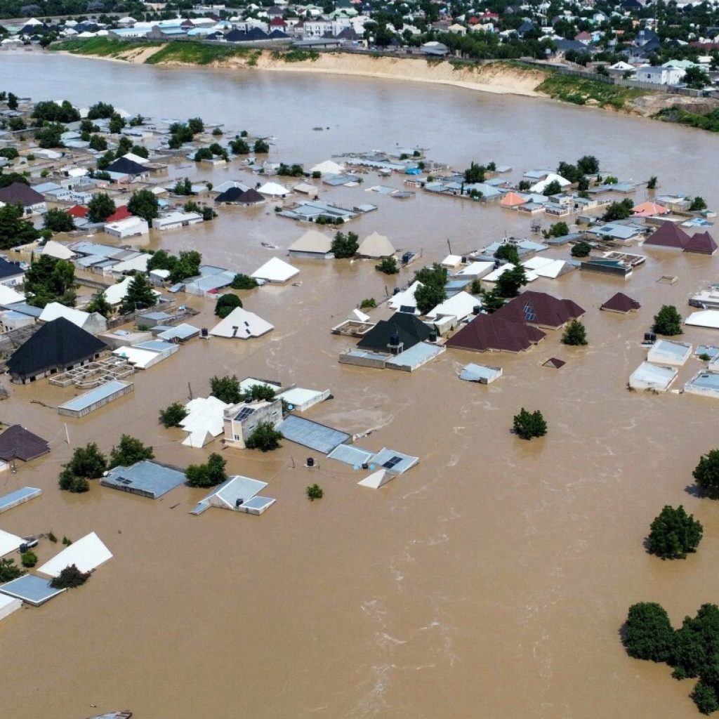
<instances>
[{"instance_id":1,"label":"sandy, partly grassy riverbank on the far side of the river","mask_svg":"<svg viewBox=\"0 0 719 719\"><path fill-rule=\"evenodd\" d=\"M258 50L226 47L201 42L169 42L139 45L136 42L93 38L72 40L52 47L54 52L85 58L131 64L166 65L231 70L354 75L406 82L447 85L467 90L524 97L544 97L571 104L682 122L713 131L714 124L701 122L707 114L719 112L719 101L706 98L665 95L638 88L626 88L593 79L563 75L551 68L497 60L483 65L452 60L396 58L359 55L351 52L302 50ZM680 108L681 112L669 112Z\"/></svg>"}]
</instances>

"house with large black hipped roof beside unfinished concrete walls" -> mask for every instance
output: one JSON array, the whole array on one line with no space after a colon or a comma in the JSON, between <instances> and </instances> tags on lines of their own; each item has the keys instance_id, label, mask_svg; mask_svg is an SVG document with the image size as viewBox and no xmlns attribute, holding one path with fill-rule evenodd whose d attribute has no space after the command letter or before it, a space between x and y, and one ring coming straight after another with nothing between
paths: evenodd
<instances>
[{"instance_id":1,"label":"house with large black hipped roof beside unfinished concrete walls","mask_svg":"<svg viewBox=\"0 0 719 719\"><path fill-rule=\"evenodd\" d=\"M13 382L28 383L97 359L107 345L64 317L42 325L7 362Z\"/></svg>"}]
</instances>

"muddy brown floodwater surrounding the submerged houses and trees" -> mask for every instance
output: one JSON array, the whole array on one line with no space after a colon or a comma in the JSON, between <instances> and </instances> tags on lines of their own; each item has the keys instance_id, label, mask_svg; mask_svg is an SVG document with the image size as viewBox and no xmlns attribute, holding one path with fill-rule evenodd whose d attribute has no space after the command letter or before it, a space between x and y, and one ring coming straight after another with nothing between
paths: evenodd
<instances>
[{"instance_id":1,"label":"muddy brown floodwater surrounding the submerged houses and trees","mask_svg":"<svg viewBox=\"0 0 719 719\"><path fill-rule=\"evenodd\" d=\"M57 55L2 53L0 87L35 99L114 101L146 115L201 115L277 137L272 157L314 164L334 153L422 145L463 168L470 160L523 170L597 155L621 178L658 175L661 191L700 194L719 206L719 138L549 101L362 78L129 67ZM313 127L329 129L313 131ZM235 162L178 176L242 179ZM340 203L379 210L349 229L378 230L395 247L441 259L529 221L498 206L423 196L398 201L360 188L324 191ZM384 181L383 181L384 182ZM391 183L399 186L400 180ZM645 191L637 193L638 201ZM152 247L195 247L208 262L252 271L303 228L272 207L221 209L212 224L153 236ZM547 255L566 256L566 249ZM0 518L6 531L77 539L97 531L114 553L86 587L0 626L1 714L78 719L120 708L138 719L592 719L695 717L692 682L664 665L629 659L618 631L631 603L662 603L675 624L719 600L719 505L687 493L698 457L716 446L717 406L694 395L629 393L638 346L662 303L686 313L687 297L717 280L716 257L652 251L633 278L580 272L531 286L586 310L587 348L559 333L521 356L443 354L412 375L336 362L349 344L329 329L365 297L398 279L370 262L296 261L301 285L243 293L245 306L275 324L252 342L193 341L146 373L135 391L65 429L52 407L73 390L10 385L0 419L51 440L52 453L0 477L1 493L42 487L39 500ZM676 275L674 285L657 283ZM618 290L637 316L599 311ZM211 326L212 306L191 299ZM716 342L687 328L686 342ZM562 370L541 367L548 357ZM490 387L462 383L458 368L504 368ZM690 359L674 388L700 367ZM188 515L202 490L180 487L159 501L93 485L60 493L56 477L71 446L109 450L122 432L185 465L219 449L181 446L184 434L157 411L203 395L214 374L259 375L334 400L308 416L421 458L372 492L349 467L285 442L272 454L227 450L228 469L270 482L278 502L261 518L210 510ZM36 403L40 400L45 405ZM510 434L522 406L543 411L549 434ZM21 463L22 464L22 463ZM325 496L309 503L306 485ZM642 541L665 504L683 503L704 524L684 562L645 554ZM40 561L57 549L42 541ZM93 706L97 709L91 708Z\"/></svg>"}]
</instances>

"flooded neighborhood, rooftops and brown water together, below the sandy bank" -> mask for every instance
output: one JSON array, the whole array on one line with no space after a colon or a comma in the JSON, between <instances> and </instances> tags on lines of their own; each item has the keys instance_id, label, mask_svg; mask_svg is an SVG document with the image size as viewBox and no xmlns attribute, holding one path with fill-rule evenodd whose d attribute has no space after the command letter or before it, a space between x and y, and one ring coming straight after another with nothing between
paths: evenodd
<instances>
[{"instance_id":1,"label":"flooded neighborhood, rooftops and brown water together, below the sandy bank","mask_svg":"<svg viewBox=\"0 0 719 719\"><path fill-rule=\"evenodd\" d=\"M26 290L43 257L78 285L74 307L40 308L0 283L0 421L30 434L6 438L0 529L37 540L14 581L45 592L0 621L4 715L697 715L694 679L621 633L635 603L679 627L719 596L719 506L692 477L718 444L718 137L536 97L39 50L2 52L2 90L25 116L112 104L124 127L91 134L132 141L100 170L81 120L51 152L0 135L20 148L3 173L29 173L0 200L74 225L6 263ZM113 208L93 221L99 194ZM151 306L129 306L138 275ZM664 306L681 334L659 331ZM546 436L513 431L523 408ZM277 449L252 449L260 425ZM154 457L58 487L77 448L125 434ZM215 454L222 481L192 486ZM683 562L645 547L665 505L703 526ZM82 587L51 591L51 534Z\"/></svg>"}]
</instances>

